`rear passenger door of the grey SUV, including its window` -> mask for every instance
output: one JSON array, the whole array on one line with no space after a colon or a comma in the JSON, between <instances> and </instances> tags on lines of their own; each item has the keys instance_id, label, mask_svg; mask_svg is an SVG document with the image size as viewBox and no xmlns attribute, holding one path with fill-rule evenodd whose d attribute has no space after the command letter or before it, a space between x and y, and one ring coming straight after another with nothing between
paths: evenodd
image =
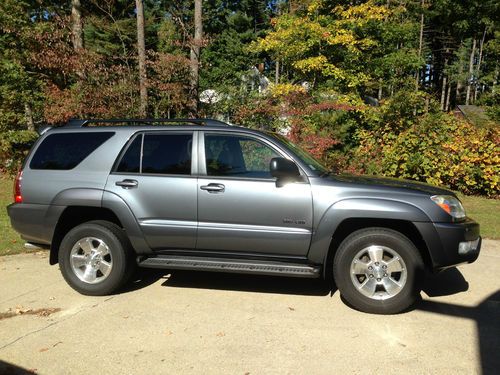
<instances>
[{"instance_id":1,"label":"rear passenger door of the grey SUV, including its window","mask_svg":"<svg viewBox=\"0 0 500 375\"><path fill-rule=\"evenodd\" d=\"M106 190L130 207L154 250L194 249L196 132L141 132L130 140Z\"/></svg>"}]
</instances>

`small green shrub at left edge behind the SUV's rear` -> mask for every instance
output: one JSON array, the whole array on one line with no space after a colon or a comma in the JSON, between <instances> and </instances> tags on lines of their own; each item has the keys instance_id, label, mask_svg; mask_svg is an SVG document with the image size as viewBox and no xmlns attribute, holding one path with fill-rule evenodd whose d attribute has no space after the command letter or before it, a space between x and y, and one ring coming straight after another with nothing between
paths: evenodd
<instances>
[{"instance_id":1,"label":"small green shrub at left edge behind the SUV's rear","mask_svg":"<svg viewBox=\"0 0 500 375\"><path fill-rule=\"evenodd\" d=\"M38 138L33 131L6 131L0 134L0 171L15 173Z\"/></svg>"}]
</instances>

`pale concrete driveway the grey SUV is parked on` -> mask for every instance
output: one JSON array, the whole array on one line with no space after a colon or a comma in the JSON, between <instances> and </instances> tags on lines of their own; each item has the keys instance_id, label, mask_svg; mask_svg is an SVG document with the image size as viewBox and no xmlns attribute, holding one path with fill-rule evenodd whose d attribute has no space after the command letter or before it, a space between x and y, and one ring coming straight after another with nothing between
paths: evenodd
<instances>
[{"instance_id":1,"label":"pale concrete driveway the grey SUV is parked on","mask_svg":"<svg viewBox=\"0 0 500 375\"><path fill-rule=\"evenodd\" d=\"M500 242L393 316L320 280L142 272L85 297L47 253L0 258L0 374L498 373Z\"/></svg>"}]
</instances>

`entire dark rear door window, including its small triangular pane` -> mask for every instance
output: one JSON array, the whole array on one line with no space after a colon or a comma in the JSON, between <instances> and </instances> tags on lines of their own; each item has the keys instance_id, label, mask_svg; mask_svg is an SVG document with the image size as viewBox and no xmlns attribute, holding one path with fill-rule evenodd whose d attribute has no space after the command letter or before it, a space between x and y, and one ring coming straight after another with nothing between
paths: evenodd
<instances>
[{"instance_id":1,"label":"entire dark rear door window, including its small triangular pane","mask_svg":"<svg viewBox=\"0 0 500 375\"><path fill-rule=\"evenodd\" d=\"M123 154L116 171L121 173L191 174L192 145L192 134L145 134L138 136Z\"/></svg>"}]
</instances>

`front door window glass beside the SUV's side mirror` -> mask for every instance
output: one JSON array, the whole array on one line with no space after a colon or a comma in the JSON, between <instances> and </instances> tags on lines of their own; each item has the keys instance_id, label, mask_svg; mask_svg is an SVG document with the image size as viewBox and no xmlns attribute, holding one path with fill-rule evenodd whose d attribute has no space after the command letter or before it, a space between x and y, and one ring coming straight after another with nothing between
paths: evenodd
<instances>
[{"instance_id":1,"label":"front door window glass beside the SUV's side mirror","mask_svg":"<svg viewBox=\"0 0 500 375\"><path fill-rule=\"evenodd\" d=\"M252 138L232 135L205 137L209 176L271 178L269 163L278 156L272 148Z\"/></svg>"}]
</instances>

